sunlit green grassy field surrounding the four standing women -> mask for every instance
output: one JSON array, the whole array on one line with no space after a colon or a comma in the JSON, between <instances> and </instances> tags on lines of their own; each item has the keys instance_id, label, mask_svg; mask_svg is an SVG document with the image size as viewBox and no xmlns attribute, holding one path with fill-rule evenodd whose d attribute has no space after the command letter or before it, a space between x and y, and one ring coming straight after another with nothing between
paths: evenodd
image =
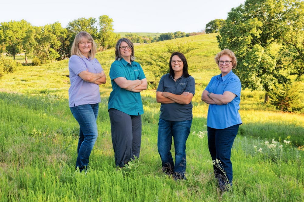
<instances>
[{"instance_id":1,"label":"sunlit green grassy field surrounding the four standing women","mask_svg":"<svg viewBox=\"0 0 304 202\"><path fill-rule=\"evenodd\" d=\"M213 60L219 51L215 36L135 47L141 61L149 57L148 51L166 44L196 47L188 58L196 82L186 149L188 180L174 181L161 172L157 152L160 104L153 88L141 93L145 113L140 160L130 169L116 171L107 112L112 49L96 56L107 74L107 84L100 87L99 136L86 174L74 170L79 129L68 108L67 60L20 67L1 78L0 201L304 201L304 115L264 105L262 91L241 93L243 124L232 149L233 190L221 194L216 186L205 132L208 105L200 101L210 78L219 74ZM143 69L148 81L153 81L147 67ZM265 141L276 147L268 148Z\"/></svg>"}]
</instances>

